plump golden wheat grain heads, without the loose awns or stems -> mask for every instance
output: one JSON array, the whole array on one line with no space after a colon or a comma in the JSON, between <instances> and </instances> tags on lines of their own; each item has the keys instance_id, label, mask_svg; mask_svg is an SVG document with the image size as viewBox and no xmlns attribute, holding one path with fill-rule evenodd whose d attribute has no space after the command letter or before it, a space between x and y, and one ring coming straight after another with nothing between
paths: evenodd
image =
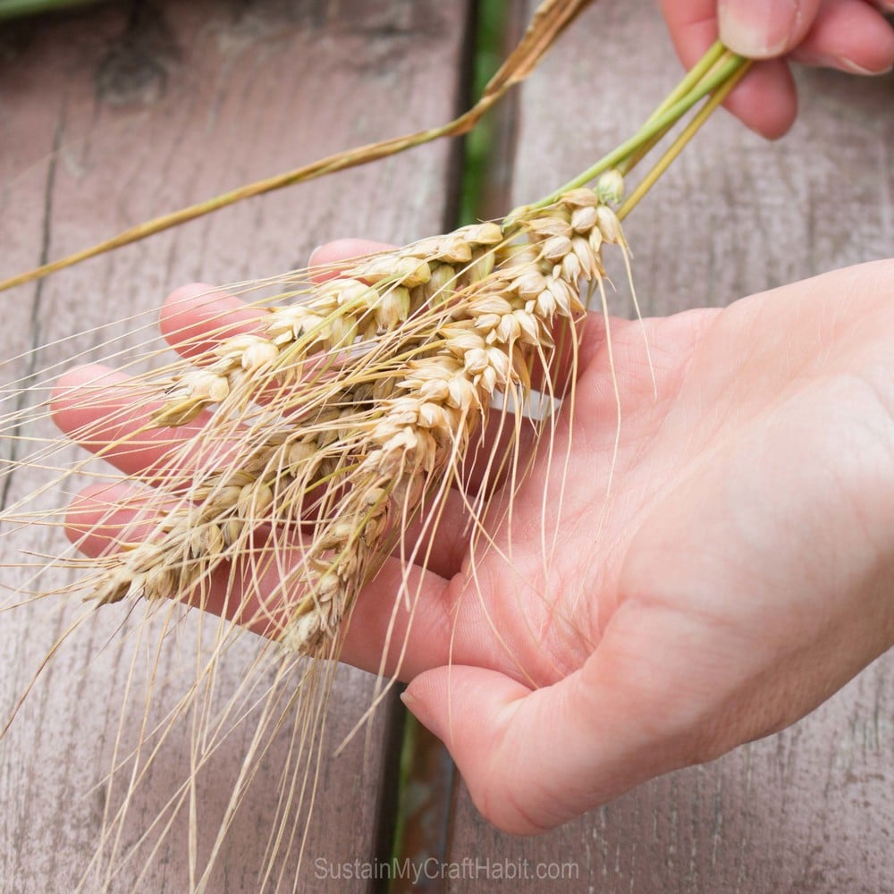
<instances>
[{"instance_id":1,"label":"plump golden wheat grain heads, without the loose awns or stems","mask_svg":"<svg viewBox=\"0 0 894 894\"><path fill-rule=\"evenodd\" d=\"M173 510L109 562L95 598L196 602L258 527L303 526L278 587L278 637L330 654L426 494L458 474L494 395L527 400L556 321L585 310L579 281L603 277L604 244L624 246L617 216L595 190L573 190L508 231L483 223L360 259L303 303L274 308L258 333L206 350L157 385L152 424L183 426L215 407L200 438L226 443L225 462L157 489L156 504ZM192 450L181 446L170 467Z\"/></svg>"}]
</instances>

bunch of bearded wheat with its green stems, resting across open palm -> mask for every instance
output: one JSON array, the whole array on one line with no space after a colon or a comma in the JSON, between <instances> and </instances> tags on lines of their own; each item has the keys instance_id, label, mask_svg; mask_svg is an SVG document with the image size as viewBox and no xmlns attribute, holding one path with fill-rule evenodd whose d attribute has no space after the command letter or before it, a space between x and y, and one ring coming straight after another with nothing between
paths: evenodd
<instances>
[{"instance_id":1,"label":"bunch of bearded wheat with its green stems, resting across open palm","mask_svg":"<svg viewBox=\"0 0 894 894\"><path fill-rule=\"evenodd\" d=\"M88 595L90 611L142 598L148 615L173 612L180 604L223 615L195 686L155 730L141 733L131 755L123 804L106 814L91 867L102 887L114 885L113 867L133 858L135 849L121 854L123 817L160 743L190 712L198 714L193 722L201 744L194 746L193 775L168 805L173 815L194 797L195 774L225 736L224 721L234 722L240 705L257 696L249 675L219 722L205 713L203 686L213 687L215 667L240 628L279 644L265 650L276 671L214 853L205 873L193 867L195 890L207 884L265 737L292 706L294 696L284 692L296 675L307 682L295 720L299 754L323 722L328 678L312 670L316 663L305 670L296 656L338 657L353 607L390 555L425 568L451 487L466 503L473 538L486 539L485 517L494 505L510 512L524 475L515 410L531 398L536 381L547 396L565 392L554 370L569 342L572 362L565 375L573 380L574 345L586 317L580 285L604 302L605 247L628 261L620 217L641 190L619 207L623 178L616 167L629 170L699 98L713 91L712 102L719 102L743 71L741 61L715 51L621 150L502 223L463 227L360 258L328 271L323 282L309 271L276 277L261 284L279 293L257 302L257 319L243 331L232 333L226 320L216 331L207 324L189 360L141 374L127 386L99 383L57 392L55 404L42 405L46 412L58 412L60 404L76 409L86 421L72 437L101 457L145 450L156 455L135 476L139 485L150 486L114 494L98 520L93 511L83 524L72 516L63 521L80 533L86 550L105 543L95 559L63 556L49 563L89 568L79 583L62 588L63 595ZM583 185L597 174L595 189ZM495 409L498 398L502 409ZM514 420L507 422L509 416ZM18 432L26 421L27 413L13 411L4 430L24 437ZM491 436L494 423L508 434L502 443ZM548 411L531 422L541 434L552 424ZM107 437L110 429L116 433ZM56 447L25 461L52 468ZM475 462L485 468L477 489L466 485ZM47 487L78 470L58 468ZM503 478L508 484L498 491ZM38 517L29 505L29 498L13 504L4 521L13 528L34 524ZM53 516L44 521L59 524ZM422 536L409 534L414 523ZM35 567L39 578L43 557ZM22 589L43 595L32 584ZM411 613L416 598L412 582L402 578L395 602ZM173 624L165 620L164 632ZM116 767L126 756L116 753ZM271 833L268 867L290 839L284 829L291 800L300 805L306 796L313 799L307 775L296 770L289 786L290 805ZM146 835L163 836L169 828L160 816Z\"/></svg>"}]
</instances>

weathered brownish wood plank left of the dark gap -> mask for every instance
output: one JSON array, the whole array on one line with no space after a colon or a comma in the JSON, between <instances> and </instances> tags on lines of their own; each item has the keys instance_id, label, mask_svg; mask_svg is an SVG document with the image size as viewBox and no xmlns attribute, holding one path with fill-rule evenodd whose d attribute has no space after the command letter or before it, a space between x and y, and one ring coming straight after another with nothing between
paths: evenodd
<instances>
[{"instance_id":1,"label":"weathered brownish wood plank left of the dark gap","mask_svg":"<svg viewBox=\"0 0 894 894\"><path fill-rule=\"evenodd\" d=\"M284 0L111 4L60 19L17 23L0 34L0 273L59 257L125 226L241 182L278 173L337 149L449 119L460 103L467 3L340 4ZM23 287L2 299L0 354L67 339L39 365L66 364L80 350L127 331L134 315L154 329L167 291L195 279L226 283L300 266L316 244L345 234L406 241L438 232L449 214L451 149L434 146L375 169L342 174L192 223L109 257ZM105 328L97 328L105 327ZM4 387L34 372L28 358L4 367ZM3 397L8 394L4 393ZM4 412L14 401L4 402ZM50 426L38 426L52 436ZM13 443L5 445L17 449ZM68 461L74 462L72 451ZM42 480L23 469L4 497ZM47 494L47 511L59 502ZM36 505L40 505L39 503ZM7 535L9 532L5 532ZM34 527L2 542L4 563L22 546L58 548L57 532ZM14 542L13 542L14 541ZM26 586L4 569L5 587ZM96 846L118 715L129 685L130 650L108 647L126 611L111 607L56 656L0 744L0 888L73 890ZM33 606L0 615L0 717L9 713L71 613ZM196 619L161 653L160 719L194 674ZM245 637L217 681L226 695L255 654ZM190 658L190 655L193 657ZM139 670L139 669L138 669ZM122 754L141 721L133 680ZM337 705L321 753L325 763L306 863L277 865L283 889L366 890L330 866L380 856L389 822L396 735L393 703L337 760L329 760L369 704L372 681L340 671ZM250 724L248 725L250 727ZM223 741L201 782L198 850L207 854L250 729ZM274 738L237 816L209 890L259 890L258 868L289 759L288 726ZM133 802L122 846L139 838L189 772L174 741L160 753ZM121 796L121 785L110 796ZM186 825L165 840L138 884L125 867L114 890L187 890ZM317 862L319 861L319 862ZM95 890L93 885L88 890ZM274 890L274 884L265 890Z\"/></svg>"}]
</instances>

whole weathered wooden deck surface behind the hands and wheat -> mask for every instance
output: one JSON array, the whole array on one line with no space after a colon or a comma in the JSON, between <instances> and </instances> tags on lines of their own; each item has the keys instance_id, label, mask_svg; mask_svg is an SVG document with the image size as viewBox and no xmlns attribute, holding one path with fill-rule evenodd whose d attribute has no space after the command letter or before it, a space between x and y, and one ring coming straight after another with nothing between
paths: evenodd
<instances>
[{"instance_id":1,"label":"whole weathered wooden deck surface behind the hands and wheat","mask_svg":"<svg viewBox=\"0 0 894 894\"><path fill-rule=\"evenodd\" d=\"M529 12L516 6L517 17ZM0 25L0 276L240 182L448 120L464 102L472 12L467 0L136 0ZM595 4L507 101L493 213L551 190L616 145L678 75L653 4ZM894 254L894 76L803 72L800 83L802 113L789 137L768 144L718 115L648 198L649 210L632 216L646 313L719 306ZM181 283L282 272L337 236L403 242L440 232L454 223L459 171L455 148L417 149L21 287L0 297L0 354L145 312ZM107 335L60 344L41 362L63 363ZM13 367L32 372L27 361ZM33 485L22 476L4 498ZM31 546L51 548L39 528ZM6 573L4 586L21 583ZM108 614L58 656L0 743L0 890L72 890L93 852L115 705L128 686L128 663L104 648L124 616ZM37 607L0 614L0 718L60 623ZM192 671L189 651L165 654L172 681ZM227 674L236 671L223 671L223 686L234 681ZM371 691L358 671L341 674L325 754ZM402 728L400 704L386 704L367 738L323 764L299 890L381 888L328 867L391 855ZM209 890L259 890L288 732L266 757L269 773L256 780ZM211 817L223 810L248 738L237 731L216 755ZM463 876L426 878L419 890L894 891L894 654L789 730L654 780L538 839L484 822L443 753L429 750L417 765L425 770L412 794L426 809L409 814L402 853L433 856ZM185 746L156 763L126 835L139 839L188 767ZM205 833L200 849L210 847ZM188 890L183 850L174 835L148 877L125 869L113 890ZM512 867L566 878L496 880Z\"/></svg>"}]
</instances>

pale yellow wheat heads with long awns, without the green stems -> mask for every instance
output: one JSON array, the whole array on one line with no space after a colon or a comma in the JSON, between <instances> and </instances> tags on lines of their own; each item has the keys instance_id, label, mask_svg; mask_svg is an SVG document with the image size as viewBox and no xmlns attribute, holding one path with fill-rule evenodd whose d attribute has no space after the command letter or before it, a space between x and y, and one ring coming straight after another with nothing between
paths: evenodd
<instances>
[{"instance_id":1,"label":"pale yellow wheat heads with long awns, without the green stems","mask_svg":"<svg viewBox=\"0 0 894 894\"><path fill-rule=\"evenodd\" d=\"M400 672L408 643L394 641L395 621L405 612L411 626L421 597L409 569L426 568L451 493L460 493L465 506L473 557L491 551L511 561L514 494L534 461L533 453L519 455L521 434L526 426L535 440L550 433L545 449L552 457L554 410L567 388L573 394L573 368L567 383L553 382L549 372L564 350L555 332L577 339L585 314L578 283L601 284L603 249L623 247L622 239L603 198L594 190L571 190L508 227L464 227L360 258L323 282L294 272L257 283L270 293L261 298L246 284L231 290L249 298L254 313L241 331L234 332L225 316L207 320L201 333L190 335L187 359L170 359L160 345L139 359L113 350L113 359L126 357L131 367L128 382L104 381L101 372L92 385L55 393L55 401L69 401L80 418L68 434L95 457L57 460L68 451L64 442L42 442L38 435L32 458L17 459L11 468L28 462L46 468L42 499L69 481L73 490L86 481L128 489L100 491L100 500L109 494L108 505L90 510L93 520L78 525L78 545L97 537L105 543L96 559L65 553L49 563L55 571L80 573L80 585L67 579L46 593L70 595L80 586L94 611L125 600L142 600L145 607L145 620L129 637L134 651L127 685L129 697L132 691L144 703L122 712L118 724L103 832L82 890L114 890L122 868L135 861L148 877L152 856L182 822L189 830L190 889L208 890L250 780L274 730L285 724L291 724L293 744L264 883L289 887L277 860L303 848L306 826L298 818L316 797L321 755L315 749L334 672L329 660L339 657L364 587L389 555L401 561L405 571L394 594L380 685L354 731ZM209 307L214 300L209 295ZM189 323L183 325L189 334ZM570 362L576 365L574 350ZM535 376L547 408L539 419L524 413L537 400ZM49 380L41 384L47 395L53 387ZM46 426L51 411L53 405L41 401L37 409L16 409L4 424L7 430ZM97 466L112 457L136 463L146 451L150 465L131 477ZM473 465L479 480L468 491ZM11 502L4 522L28 524L29 499ZM64 510L46 520L62 526ZM490 533L504 523L510 531L505 545ZM406 536L411 525L413 540ZM544 567L554 549L544 534ZM34 563L29 583L35 598L48 573L40 565ZM473 583L475 575L473 559ZM185 605L221 617L206 616L210 620L198 625L194 679L159 714L156 699L174 685L164 650L181 636ZM485 622L502 641L487 611ZM244 628L280 645L265 645L221 703L220 668ZM536 636L533 628L530 635ZM504 648L514 660L513 645ZM527 675L523 662L519 674ZM254 730L249 749L218 831L203 845L197 838L200 780L230 730L245 722ZM155 821L129 839L139 791L160 756L181 740L190 743L188 776Z\"/></svg>"}]
</instances>

